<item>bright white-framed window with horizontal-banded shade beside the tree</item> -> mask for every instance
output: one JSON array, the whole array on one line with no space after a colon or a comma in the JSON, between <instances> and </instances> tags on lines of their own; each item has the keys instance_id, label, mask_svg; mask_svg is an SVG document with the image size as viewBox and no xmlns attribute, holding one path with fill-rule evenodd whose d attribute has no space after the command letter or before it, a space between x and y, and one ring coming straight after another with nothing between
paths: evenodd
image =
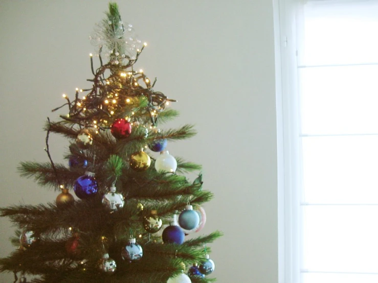
<instances>
[{"instance_id":1,"label":"bright white-framed window with horizontal-banded shade beside the tree","mask_svg":"<svg viewBox=\"0 0 378 283\"><path fill-rule=\"evenodd\" d=\"M378 0L279 3L285 282L378 282Z\"/></svg>"}]
</instances>

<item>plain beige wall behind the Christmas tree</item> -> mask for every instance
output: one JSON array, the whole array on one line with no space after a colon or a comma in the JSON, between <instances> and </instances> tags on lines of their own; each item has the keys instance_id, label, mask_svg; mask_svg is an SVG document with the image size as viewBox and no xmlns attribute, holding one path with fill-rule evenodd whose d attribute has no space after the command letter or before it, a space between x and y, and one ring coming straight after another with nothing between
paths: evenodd
<instances>
[{"instance_id":1,"label":"plain beige wall behind the Christmas tree","mask_svg":"<svg viewBox=\"0 0 378 283\"><path fill-rule=\"evenodd\" d=\"M198 135L169 151L203 164L205 233L219 283L278 282L277 150L272 1L119 1L124 21L149 45L138 68L179 102L177 121ZM91 78L88 41L107 1L0 0L0 206L46 203L56 193L21 179L17 164L48 161L41 128L63 92ZM62 111L64 112L64 111ZM61 112L61 113L62 113ZM68 141L52 136L55 162ZM0 256L13 227L0 220ZM10 282L11 274L0 274Z\"/></svg>"}]
</instances>

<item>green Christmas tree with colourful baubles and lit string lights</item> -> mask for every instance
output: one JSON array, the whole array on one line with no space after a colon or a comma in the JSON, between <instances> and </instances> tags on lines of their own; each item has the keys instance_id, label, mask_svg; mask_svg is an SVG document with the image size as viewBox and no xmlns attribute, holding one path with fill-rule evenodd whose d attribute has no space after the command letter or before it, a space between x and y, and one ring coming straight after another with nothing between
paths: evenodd
<instances>
[{"instance_id":1,"label":"green Christmas tree with colourful baubles and lit string lights","mask_svg":"<svg viewBox=\"0 0 378 283\"><path fill-rule=\"evenodd\" d=\"M15 282L27 275L38 275L32 282L214 281L207 244L221 233L193 236L213 195L203 190L201 166L166 150L193 136L193 127L161 128L178 115L168 108L175 100L134 68L146 43L122 22L117 4L109 3L90 40L98 56L90 55L92 86L76 89L73 99L63 95L53 109L68 113L46 123L49 160L19 166L58 196L0 210L18 227L17 249L0 260L0 271L14 272ZM53 161L52 133L69 139L68 166ZM189 172L198 177L189 181Z\"/></svg>"}]
</instances>

